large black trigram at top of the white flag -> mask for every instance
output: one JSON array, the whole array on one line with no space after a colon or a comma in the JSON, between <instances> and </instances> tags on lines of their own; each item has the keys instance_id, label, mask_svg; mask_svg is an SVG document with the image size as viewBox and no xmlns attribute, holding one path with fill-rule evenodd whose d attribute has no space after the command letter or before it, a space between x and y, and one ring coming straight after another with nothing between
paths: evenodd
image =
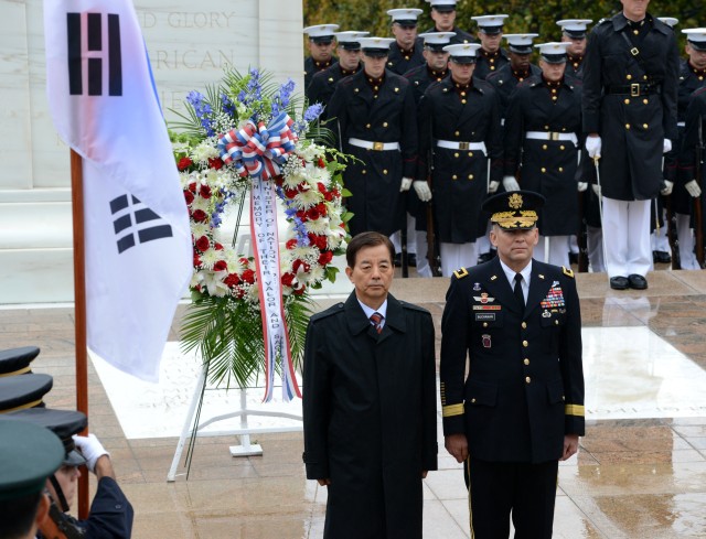
<instances>
[{"instance_id":1,"label":"large black trigram at top of the white flag","mask_svg":"<svg viewBox=\"0 0 706 539\"><path fill-rule=\"evenodd\" d=\"M108 95L122 95L122 57L120 54L120 18L116 14L66 13L66 35L68 39L68 91L72 96L86 93L84 88L83 51L86 52L87 95L104 95L104 71L107 66ZM104 21L106 31L104 31ZM106 39L104 40L104 33ZM104 43L106 47L104 47ZM105 50L107 48L107 50Z\"/></svg>"}]
</instances>

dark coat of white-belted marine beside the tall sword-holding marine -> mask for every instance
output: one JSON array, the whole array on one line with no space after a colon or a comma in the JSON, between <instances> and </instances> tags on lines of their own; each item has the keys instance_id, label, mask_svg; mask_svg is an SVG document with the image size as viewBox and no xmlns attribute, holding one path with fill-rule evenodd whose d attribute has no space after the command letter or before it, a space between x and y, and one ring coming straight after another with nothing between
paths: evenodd
<instances>
[{"instance_id":1,"label":"dark coat of white-belted marine beside the tall sword-holding marine","mask_svg":"<svg viewBox=\"0 0 706 539\"><path fill-rule=\"evenodd\" d=\"M539 211L539 234L569 236L579 227L576 175L581 147L581 84L565 77L555 89L552 94L542 75L517 85L505 117L504 175L514 176L520 171L521 188L546 198ZM528 131L573 133L577 143L526 139Z\"/></svg>"}]
</instances>

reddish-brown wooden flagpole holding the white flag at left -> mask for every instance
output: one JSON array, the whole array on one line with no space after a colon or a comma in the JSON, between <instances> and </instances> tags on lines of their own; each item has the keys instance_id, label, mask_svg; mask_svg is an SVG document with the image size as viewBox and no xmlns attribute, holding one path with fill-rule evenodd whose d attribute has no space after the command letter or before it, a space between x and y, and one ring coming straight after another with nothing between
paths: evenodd
<instances>
[{"instance_id":1,"label":"reddish-brown wooden flagpole holding the white flag at left","mask_svg":"<svg viewBox=\"0 0 706 539\"><path fill-rule=\"evenodd\" d=\"M83 160L71 150L74 227L74 316L76 338L76 410L88 416L88 347L86 344L86 254L84 239ZM83 432L82 434L85 434ZM78 478L78 518L88 518L88 474Z\"/></svg>"}]
</instances>

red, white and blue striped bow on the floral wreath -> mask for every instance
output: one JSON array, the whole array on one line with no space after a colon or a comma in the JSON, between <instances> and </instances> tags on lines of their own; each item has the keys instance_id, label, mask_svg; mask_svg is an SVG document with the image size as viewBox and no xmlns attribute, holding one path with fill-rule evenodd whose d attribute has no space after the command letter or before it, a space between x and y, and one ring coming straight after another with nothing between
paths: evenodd
<instances>
[{"instance_id":1,"label":"red, white and blue striped bow on the floral wreath","mask_svg":"<svg viewBox=\"0 0 706 539\"><path fill-rule=\"evenodd\" d=\"M221 159L232 163L242 176L249 175L253 180L277 176L280 165L295 150L297 136L290 129L293 123L287 112L272 118L267 126L248 120L242 129L218 137Z\"/></svg>"}]
</instances>

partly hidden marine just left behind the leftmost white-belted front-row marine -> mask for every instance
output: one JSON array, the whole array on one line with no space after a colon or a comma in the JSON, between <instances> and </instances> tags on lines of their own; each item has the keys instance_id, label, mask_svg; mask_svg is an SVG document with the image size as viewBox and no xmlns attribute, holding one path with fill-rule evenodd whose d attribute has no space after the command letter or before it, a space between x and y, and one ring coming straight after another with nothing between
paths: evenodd
<instances>
[{"instance_id":1,"label":"partly hidden marine just left behind the leftmost white-belted front-row marine","mask_svg":"<svg viewBox=\"0 0 706 539\"><path fill-rule=\"evenodd\" d=\"M336 32L335 40L339 43L336 52L339 61L328 69L315 73L311 78L311 84L307 88L307 99L309 103L320 103L324 107L329 105L335 85L342 78L354 75L363 68L361 63L361 37L365 37L368 32ZM328 118L324 108L322 119Z\"/></svg>"}]
</instances>

